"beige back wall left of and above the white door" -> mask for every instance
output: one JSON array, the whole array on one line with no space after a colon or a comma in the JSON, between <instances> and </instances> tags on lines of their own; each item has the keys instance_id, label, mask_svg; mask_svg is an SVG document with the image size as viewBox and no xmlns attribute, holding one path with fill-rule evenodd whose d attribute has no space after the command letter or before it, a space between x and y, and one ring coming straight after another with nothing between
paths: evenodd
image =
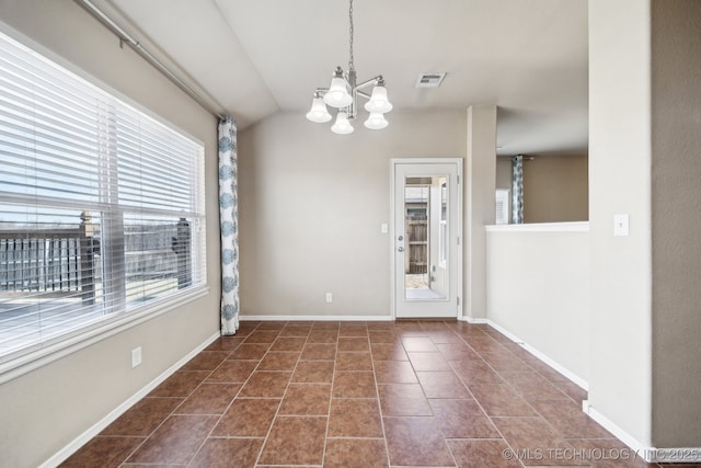
<instances>
[{"instance_id":1,"label":"beige back wall left of and above the white door","mask_svg":"<svg viewBox=\"0 0 701 468\"><path fill-rule=\"evenodd\" d=\"M389 317L390 159L464 158L467 137L460 111L388 119L344 136L277 114L239 134L243 316Z\"/></svg>"}]
</instances>

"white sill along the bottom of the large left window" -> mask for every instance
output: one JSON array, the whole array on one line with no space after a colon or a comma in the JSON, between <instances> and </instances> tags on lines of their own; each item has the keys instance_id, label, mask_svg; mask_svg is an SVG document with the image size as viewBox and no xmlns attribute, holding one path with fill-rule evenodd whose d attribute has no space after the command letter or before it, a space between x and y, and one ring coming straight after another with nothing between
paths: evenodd
<instances>
[{"instance_id":1,"label":"white sill along the bottom of the large left window","mask_svg":"<svg viewBox=\"0 0 701 468\"><path fill-rule=\"evenodd\" d=\"M177 306L183 306L208 294L209 287L206 285L200 286L182 295L174 295L162 301L154 301L129 312L105 318L95 326L72 334L59 336L45 343L37 343L25 350L2 356L0 357L0 359L3 359L0 362L0 385L163 313L168 313Z\"/></svg>"}]
</instances>

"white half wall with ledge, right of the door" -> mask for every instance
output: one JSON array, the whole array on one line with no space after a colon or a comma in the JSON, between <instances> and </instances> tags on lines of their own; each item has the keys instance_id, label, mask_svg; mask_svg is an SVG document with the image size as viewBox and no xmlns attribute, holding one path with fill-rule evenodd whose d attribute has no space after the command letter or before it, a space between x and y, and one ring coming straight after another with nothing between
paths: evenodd
<instances>
[{"instance_id":1,"label":"white half wall with ledge, right of the door","mask_svg":"<svg viewBox=\"0 0 701 468\"><path fill-rule=\"evenodd\" d=\"M585 385L589 378L587 222L486 228L487 319Z\"/></svg>"}]
</instances>

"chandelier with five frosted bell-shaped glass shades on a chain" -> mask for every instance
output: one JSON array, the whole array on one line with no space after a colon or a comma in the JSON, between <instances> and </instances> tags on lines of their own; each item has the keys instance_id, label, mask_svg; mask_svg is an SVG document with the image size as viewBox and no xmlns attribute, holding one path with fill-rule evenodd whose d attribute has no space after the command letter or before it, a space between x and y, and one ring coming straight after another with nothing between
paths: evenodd
<instances>
[{"instance_id":1,"label":"chandelier with five frosted bell-shaped glass shades on a chain","mask_svg":"<svg viewBox=\"0 0 701 468\"><path fill-rule=\"evenodd\" d=\"M357 117L358 95L368 100L365 103L365 110L369 113L369 116L364 123L367 128L378 130L387 127L389 123L384 118L384 114L392 110L392 104L387 99L387 88L384 88L384 80L381 75L361 83L357 82L357 75L353 66L353 0L349 0L348 18L350 22L348 71L343 71L341 66L336 67L329 88L317 88L311 110L307 113L307 118L311 122L324 123L332 118L326 105L337 109L336 121L331 130L340 135L352 134L354 130L350 121ZM375 87L370 94L363 91L372 84Z\"/></svg>"}]
</instances>

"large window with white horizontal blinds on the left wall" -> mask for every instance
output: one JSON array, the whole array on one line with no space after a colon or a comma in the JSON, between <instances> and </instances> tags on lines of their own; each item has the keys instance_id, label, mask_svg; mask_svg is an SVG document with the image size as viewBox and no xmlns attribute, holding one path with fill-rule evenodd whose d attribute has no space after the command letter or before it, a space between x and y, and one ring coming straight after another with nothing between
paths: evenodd
<instances>
[{"instance_id":1,"label":"large window with white horizontal blinds on the left wall","mask_svg":"<svg viewBox=\"0 0 701 468\"><path fill-rule=\"evenodd\" d=\"M203 145L0 35L0 362L206 284Z\"/></svg>"}]
</instances>

